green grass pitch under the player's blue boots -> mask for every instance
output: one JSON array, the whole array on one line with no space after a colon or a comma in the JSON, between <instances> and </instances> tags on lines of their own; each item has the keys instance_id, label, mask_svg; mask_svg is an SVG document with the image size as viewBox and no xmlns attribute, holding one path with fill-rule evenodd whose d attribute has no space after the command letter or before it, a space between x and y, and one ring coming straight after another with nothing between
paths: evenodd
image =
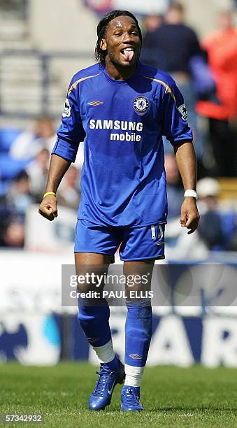
<instances>
[{"instance_id":1,"label":"green grass pitch under the player's blue boots","mask_svg":"<svg viewBox=\"0 0 237 428\"><path fill-rule=\"evenodd\" d=\"M120 412L120 385L106 411L89 412L94 371L87 363L75 362L41 368L1 364L0 413L43 413L45 427L237 427L235 369L148 367L141 387L143 413Z\"/></svg>"}]
</instances>

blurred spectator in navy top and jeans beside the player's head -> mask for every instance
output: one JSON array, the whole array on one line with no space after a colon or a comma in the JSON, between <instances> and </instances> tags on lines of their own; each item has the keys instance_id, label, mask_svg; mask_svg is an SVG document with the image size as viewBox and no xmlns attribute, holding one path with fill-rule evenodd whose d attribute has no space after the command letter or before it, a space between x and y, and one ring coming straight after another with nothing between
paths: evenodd
<instances>
[{"instance_id":1,"label":"blurred spectator in navy top and jeans beside the player's head","mask_svg":"<svg viewBox=\"0 0 237 428\"><path fill-rule=\"evenodd\" d=\"M180 3L171 4L164 16L164 24L145 36L141 60L170 73L174 78L185 99L188 122L196 139L196 96L189 62L192 57L201 54L201 48L194 30L184 23L184 14L185 10ZM201 155L199 145L196 146L196 152L198 156Z\"/></svg>"}]
</instances>

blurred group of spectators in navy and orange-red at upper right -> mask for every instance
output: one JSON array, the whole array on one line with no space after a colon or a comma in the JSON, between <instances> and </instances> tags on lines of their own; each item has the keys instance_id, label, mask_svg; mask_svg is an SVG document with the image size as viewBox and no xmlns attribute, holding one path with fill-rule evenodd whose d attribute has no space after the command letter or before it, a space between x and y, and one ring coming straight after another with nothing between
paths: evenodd
<instances>
[{"instance_id":1,"label":"blurred group of spectators in navy and orange-red at upper right","mask_svg":"<svg viewBox=\"0 0 237 428\"><path fill-rule=\"evenodd\" d=\"M237 30L231 11L199 41L172 3L166 14L145 18L141 60L171 74L185 98L199 162L199 176L236 177ZM166 150L170 150L165 144Z\"/></svg>"}]
</instances>

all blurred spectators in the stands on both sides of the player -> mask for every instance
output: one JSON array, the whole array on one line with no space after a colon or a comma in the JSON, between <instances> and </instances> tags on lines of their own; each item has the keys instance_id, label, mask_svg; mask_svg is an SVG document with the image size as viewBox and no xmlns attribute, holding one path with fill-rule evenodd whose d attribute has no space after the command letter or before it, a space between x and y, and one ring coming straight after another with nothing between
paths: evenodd
<instances>
[{"instance_id":1,"label":"all blurred spectators in the stands on both sides of the player","mask_svg":"<svg viewBox=\"0 0 237 428\"><path fill-rule=\"evenodd\" d=\"M236 208L222 210L219 177L237 173L237 30L230 11L217 29L199 41L174 2L163 16L143 20L141 61L171 74L184 95L198 158L199 235L210 250L237 250ZM50 152L56 140L50 117L32 129L0 129L0 246L24 246L27 209L45 190ZM180 215L183 190L172 146L165 141L170 219ZM80 166L72 165L57 193L59 205L77 210ZM237 184L236 184L237 187Z\"/></svg>"}]
</instances>

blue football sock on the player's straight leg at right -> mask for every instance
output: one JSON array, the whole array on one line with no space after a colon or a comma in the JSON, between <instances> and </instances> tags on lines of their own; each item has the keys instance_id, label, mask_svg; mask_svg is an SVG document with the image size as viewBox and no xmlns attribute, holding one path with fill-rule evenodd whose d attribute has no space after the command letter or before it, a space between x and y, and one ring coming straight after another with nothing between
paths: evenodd
<instances>
[{"instance_id":1,"label":"blue football sock on the player's straight leg at right","mask_svg":"<svg viewBox=\"0 0 237 428\"><path fill-rule=\"evenodd\" d=\"M152 338L152 307L150 299L127 302L125 325L125 364L145 366Z\"/></svg>"}]
</instances>

